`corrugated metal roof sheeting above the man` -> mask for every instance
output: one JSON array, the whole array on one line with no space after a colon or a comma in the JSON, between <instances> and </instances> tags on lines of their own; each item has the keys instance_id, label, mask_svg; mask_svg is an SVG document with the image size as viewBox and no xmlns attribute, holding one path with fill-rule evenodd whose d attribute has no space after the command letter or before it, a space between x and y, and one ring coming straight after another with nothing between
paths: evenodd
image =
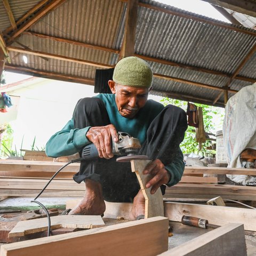
<instances>
[{"instance_id":1,"label":"corrugated metal roof sheeting above the man","mask_svg":"<svg viewBox=\"0 0 256 256\"><path fill-rule=\"evenodd\" d=\"M21 17L26 12L25 9L29 10L37 2L10 1L12 8L14 8L14 5L20 6L19 9L13 9L15 18ZM157 7L158 10L143 7L141 4L150 4ZM127 3L117 0L67 0L39 19L29 30L121 50L126 5ZM171 13L167 13L166 10L170 10ZM9 20L6 21L6 17L2 18L2 14L5 14L5 11L1 9L1 4L0 14L0 21L6 22L4 25L2 23L0 25L3 30L10 26L10 22ZM190 19L187 15L193 15L195 19ZM212 22L218 22L220 26L215 26ZM234 30L238 28L240 31ZM177 65L166 65L166 63L148 61L156 74L222 87L227 85L229 81L227 75L231 76L234 73L256 44L255 38L256 32L250 28L215 21L202 15L193 14L155 1L141 0L138 7L134 50L135 54L177 63ZM119 55L116 53L57 42L28 34L21 35L18 38L18 42L34 51L64 55L107 65L115 65L119 59ZM21 47L15 42L12 46ZM28 64L25 64L22 61L21 54L10 52L10 56L12 65L70 76L94 78L96 69L89 65L70 61L51 58L46 61L34 55L28 55ZM256 53L247 61L238 75L256 79L255 62ZM179 64L187 65L190 69L179 67ZM201 72L196 68L218 71L223 75ZM231 89L239 90L249 84L250 82L234 79L230 87ZM165 92L174 93L194 98L204 98L209 100L210 103L220 93L220 90L207 89L156 77L153 85L154 93L157 95L165 95ZM233 94L229 93L229 95ZM223 102L223 100L224 98L221 96L219 102Z\"/></svg>"}]
</instances>

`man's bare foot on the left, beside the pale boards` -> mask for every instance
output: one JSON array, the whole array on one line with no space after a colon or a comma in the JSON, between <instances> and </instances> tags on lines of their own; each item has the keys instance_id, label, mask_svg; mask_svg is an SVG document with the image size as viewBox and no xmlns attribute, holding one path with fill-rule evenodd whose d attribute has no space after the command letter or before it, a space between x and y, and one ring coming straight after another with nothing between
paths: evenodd
<instances>
[{"instance_id":1,"label":"man's bare foot on the left, beside the pale boards","mask_svg":"<svg viewBox=\"0 0 256 256\"><path fill-rule=\"evenodd\" d=\"M86 179L84 198L68 214L101 215L105 210L106 205L103 200L100 182Z\"/></svg>"}]
</instances>

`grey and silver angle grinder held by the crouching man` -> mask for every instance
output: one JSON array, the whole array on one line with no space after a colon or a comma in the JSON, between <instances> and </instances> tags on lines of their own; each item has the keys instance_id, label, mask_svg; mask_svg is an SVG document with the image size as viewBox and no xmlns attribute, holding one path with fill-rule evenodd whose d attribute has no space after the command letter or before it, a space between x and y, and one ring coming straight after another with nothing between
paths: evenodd
<instances>
[{"instance_id":1,"label":"grey and silver angle grinder held by the crouching man","mask_svg":"<svg viewBox=\"0 0 256 256\"><path fill-rule=\"evenodd\" d=\"M131 159L148 159L145 155L137 155L141 148L140 141L137 138L133 138L129 133L118 132L118 142L112 142L113 154L118 157L117 162L129 162ZM82 149L81 158L85 161L91 161L99 158L97 148L93 143L85 146Z\"/></svg>"}]
</instances>

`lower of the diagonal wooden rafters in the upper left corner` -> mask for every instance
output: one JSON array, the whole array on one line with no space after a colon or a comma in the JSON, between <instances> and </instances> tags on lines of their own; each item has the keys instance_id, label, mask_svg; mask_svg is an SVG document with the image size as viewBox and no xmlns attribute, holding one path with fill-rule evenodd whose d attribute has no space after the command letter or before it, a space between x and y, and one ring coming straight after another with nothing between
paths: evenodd
<instances>
[{"instance_id":1,"label":"lower of the diagonal wooden rafters in the upper left corner","mask_svg":"<svg viewBox=\"0 0 256 256\"><path fill-rule=\"evenodd\" d=\"M41 10L39 10L35 15L31 15L31 18L22 23L22 25L18 28L15 29L11 34L10 38L7 40L7 44L11 44L13 40L18 37L23 31L28 29L30 26L32 26L35 22L37 22L39 19L44 17L47 13L52 11L54 8L57 6L61 5L64 3L66 0L53 0L46 4Z\"/></svg>"}]
</instances>

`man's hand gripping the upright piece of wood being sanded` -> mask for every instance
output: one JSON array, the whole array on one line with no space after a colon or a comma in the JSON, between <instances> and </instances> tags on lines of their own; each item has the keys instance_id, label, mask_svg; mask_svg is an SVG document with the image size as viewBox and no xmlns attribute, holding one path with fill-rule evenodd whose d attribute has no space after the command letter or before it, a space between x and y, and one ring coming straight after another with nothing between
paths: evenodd
<instances>
[{"instance_id":1,"label":"man's hand gripping the upright piece of wood being sanded","mask_svg":"<svg viewBox=\"0 0 256 256\"><path fill-rule=\"evenodd\" d=\"M149 163L143 170L143 174L151 174L153 176L146 184L146 188L152 187L151 194L155 194L161 185L168 183L170 180L169 172L167 172L164 164L159 159Z\"/></svg>"}]
</instances>

